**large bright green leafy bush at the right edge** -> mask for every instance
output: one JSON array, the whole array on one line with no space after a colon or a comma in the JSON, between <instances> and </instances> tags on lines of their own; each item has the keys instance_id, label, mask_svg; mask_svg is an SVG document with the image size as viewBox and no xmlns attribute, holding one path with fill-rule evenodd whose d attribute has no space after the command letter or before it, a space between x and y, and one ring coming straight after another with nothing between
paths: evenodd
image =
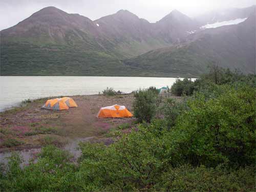
<instances>
[{"instance_id":1,"label":"large bright green leafy bush at the right edge","mask_svg":"<svg viewBox=\"0 0 256 192\"><path fill-rule=\"evenodd\" d=\"M255 162L255 92L229 88L216 98L197 94L179 116L173 139L184 162L193 165L248 165ZM175 152L177 153L177 152ZM179 154L179 156L180 156Z\"/></svg>"}]
</instances>

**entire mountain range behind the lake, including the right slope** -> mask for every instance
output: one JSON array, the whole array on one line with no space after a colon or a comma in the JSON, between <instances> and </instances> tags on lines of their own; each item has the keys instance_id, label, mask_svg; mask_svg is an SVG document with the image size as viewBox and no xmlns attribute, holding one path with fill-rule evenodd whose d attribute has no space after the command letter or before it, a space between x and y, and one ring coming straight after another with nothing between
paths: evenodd
<instances>
[{"instance_id":1,"label":"entire mountain range behind the lake, including the right slope","mask_svg":"<svg viewBox=\"0 0 256 192\"><path fill-rule=\"evenodd\" d=\"M0 75L192 77L214 61L252 72L253 16L234 26L201 25L177 10L150 23L127 10L93 21L46 7L1 31Z\"/></svg>"}]
</instances>

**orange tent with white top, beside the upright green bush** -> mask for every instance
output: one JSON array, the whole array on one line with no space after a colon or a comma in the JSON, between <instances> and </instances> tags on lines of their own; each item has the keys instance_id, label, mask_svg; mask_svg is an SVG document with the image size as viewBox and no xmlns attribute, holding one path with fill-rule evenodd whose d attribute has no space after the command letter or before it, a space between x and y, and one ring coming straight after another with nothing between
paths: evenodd
<instances>
[{"instance_id":1,"label":"orange tent with white top, beside the upright green bush","mask_svg":"<svg viewBox=\"0 0 256 192\"><path fill-rule=\"evenodd\" d=\"M113 106L105 106L104 108L100 108L97 118L105 118L105 117L132 117L131 114L125 106L121 106L115 104Z\"/></svg>"}]
</instances>

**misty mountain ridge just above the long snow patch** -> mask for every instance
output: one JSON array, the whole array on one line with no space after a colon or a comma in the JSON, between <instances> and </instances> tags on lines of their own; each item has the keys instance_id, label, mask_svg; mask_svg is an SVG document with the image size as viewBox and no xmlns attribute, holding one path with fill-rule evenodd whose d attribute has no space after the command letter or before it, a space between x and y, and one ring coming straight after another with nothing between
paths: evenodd
<instances>
[{"instance_id":1,"label":"misty mountain ridge just above the long snow patch","mask_svg":"<svg viewBox=\"0 0 256 192\"><path fill-rule=\"evenodd\" d=\"M206 25L238 18L247 18L250 16L250 14L255 12L255 9L256 5L246 8L230 8L221 11L215 10L199 15L195 18L195 20L200 22L201 25Z\"/></svg>"}]
</instances>

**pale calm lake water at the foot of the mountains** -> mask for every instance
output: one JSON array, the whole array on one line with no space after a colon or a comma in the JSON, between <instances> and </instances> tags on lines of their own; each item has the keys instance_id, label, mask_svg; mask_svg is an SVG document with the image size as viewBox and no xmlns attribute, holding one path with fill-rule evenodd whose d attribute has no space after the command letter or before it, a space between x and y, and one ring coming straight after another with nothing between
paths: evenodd
<instances>
[{"instance_id":1,"label":"pale calm lake water at the foot of the mountains","mask_svg":"<svg viewBox=\"0 0 256 192\"><path fill-rule=\"evenodd\" d=\"M170 87L175 80L160 77L0 76L0 111L17 106L25 99L92 95L106 87L129 93L150 86Z\"/></svg>"}]
</instances>

